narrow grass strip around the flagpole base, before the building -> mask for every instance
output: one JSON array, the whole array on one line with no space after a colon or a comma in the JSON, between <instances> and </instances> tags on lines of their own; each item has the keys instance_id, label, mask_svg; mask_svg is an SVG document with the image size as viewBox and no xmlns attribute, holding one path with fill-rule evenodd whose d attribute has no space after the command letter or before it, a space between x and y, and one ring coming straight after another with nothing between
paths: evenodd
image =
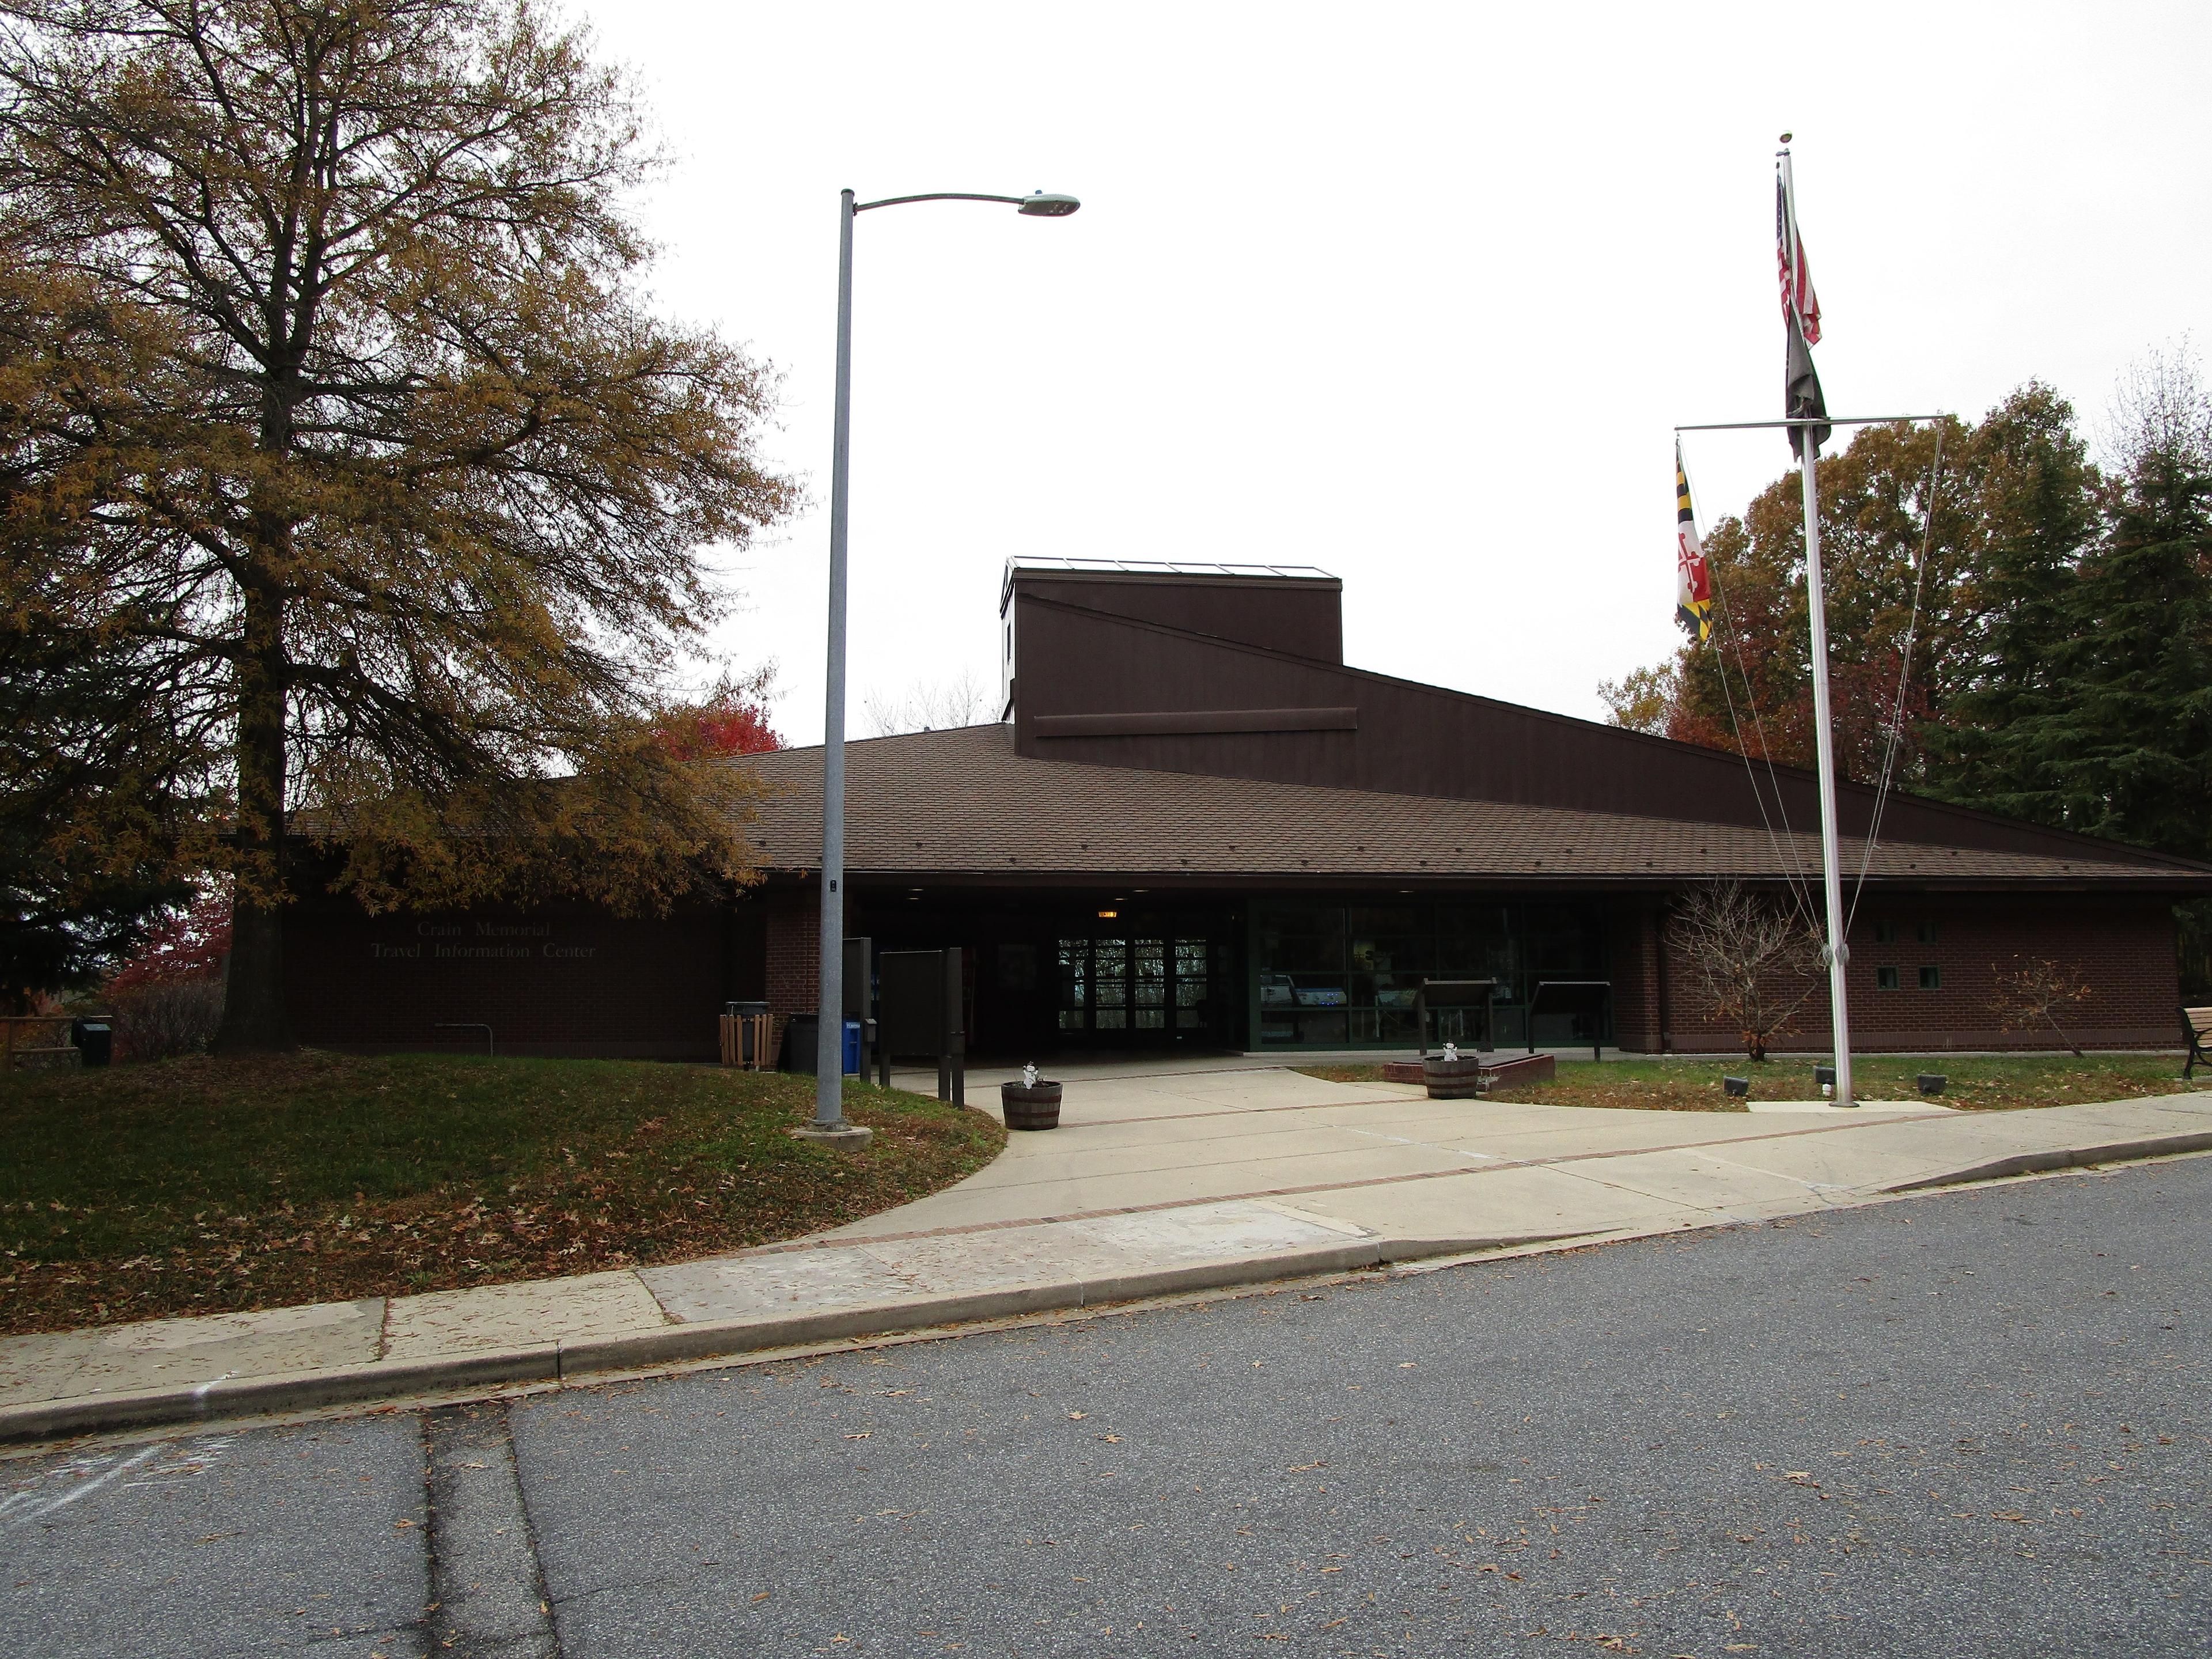
<instances>
[{"instance_id":1,"label":"narrow grass strip around the flagpole base, before the building","mask_svg":"<svg viewBox=\"0 0 2212 1659\"><path fill-rule=\"evenodd\" d=\"M1504 1055L1506 1051L1500 1051ZM1825 1064L1825 1060L1823 1060ZM1750 1099L1818 1099L1812 1055L1787 1055L1752 1064L1743 1055L1725 1060L1559 1060L1559 1077L1548 1084L1500 1088L1491 1099L1544 1102L1548 1106L1626 1106L1650 1113L1741 1113L1743 1102L1721 1093L1721 1077L1750 1077ZM1338 1084L1383 1079L1383 1066L1301 1066L1307 1077ZM1851 1082L1867 1099L1920 1099L1916 1073L1940 1071L1951 1084L1938 1099L1975 1113L2022 1106L2075 1106L2088 1099L2172 1095L2203 1088L2181 1082L2181 1055L1858 1055Z\"/></svg>"}]
</instances>

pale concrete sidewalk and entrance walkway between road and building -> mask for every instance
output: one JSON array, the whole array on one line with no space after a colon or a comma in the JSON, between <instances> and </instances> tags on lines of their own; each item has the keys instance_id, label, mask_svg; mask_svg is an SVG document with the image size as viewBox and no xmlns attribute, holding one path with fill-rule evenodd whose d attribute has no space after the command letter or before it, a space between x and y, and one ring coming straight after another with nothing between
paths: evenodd
<instances>
[{"instance_id":1,"label":"pale concrete sidewalk and entrance walkway between road and building","mask_svg":"<svg viewBox=\"0 0 2212 1659\"><path fill-rule=\"evenodd\" d=\"M973 1073L971 1097L998 1082ZM546 1385L2205 1148L2212 1091L2020 1113L1637 1113L1431 1102L1265 1062L1099 1068L1071 1082L1060 1130L1013 1135L960 1186L814 1239L0 1340L0 1440Z\"/></svg>"}]
</instances>

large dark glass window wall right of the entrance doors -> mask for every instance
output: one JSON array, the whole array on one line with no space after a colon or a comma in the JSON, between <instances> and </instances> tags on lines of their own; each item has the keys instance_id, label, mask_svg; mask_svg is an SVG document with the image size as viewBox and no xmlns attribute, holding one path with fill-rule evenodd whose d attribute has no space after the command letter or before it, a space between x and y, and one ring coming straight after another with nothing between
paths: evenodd
<instances>
[{"instance_id":1,"label":"large dark glass window wall right of the entrance doors","mask_svg":"<svg viewBox=\"0 0 2212 1659\"><path fill-rule=\"evenodd\" d=\"M1515 1046L1595 1042L1608 1035L1604 916L1597 905L1256 905L1252 971L1259 1044L1409 1046L1413 993L1425 980L1493 980L1489 1022L1480 1006L1440 1006L1431 1042L1484 1035ZM1542 991L1540 991L1542 987Z\"/></svg>"}]
</instances>

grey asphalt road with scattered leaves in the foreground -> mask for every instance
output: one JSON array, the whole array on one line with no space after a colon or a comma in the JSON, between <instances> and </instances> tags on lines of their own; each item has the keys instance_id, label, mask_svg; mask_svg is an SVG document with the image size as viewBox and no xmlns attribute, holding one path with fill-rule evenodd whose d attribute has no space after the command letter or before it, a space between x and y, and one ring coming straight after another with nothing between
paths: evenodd
<instances>
[{"instance_id":1,"label":"grey asphalt road with scattered leaves in the foreground","mask_svg":"<svg viewBox=\"0 0 2212 1659\"><path fill-rule=\"evenodd\" d=\"M2208 1245L2185 1159L22 1460L0 1650L2208 1652Z\"/></svg>"}]
</instances>

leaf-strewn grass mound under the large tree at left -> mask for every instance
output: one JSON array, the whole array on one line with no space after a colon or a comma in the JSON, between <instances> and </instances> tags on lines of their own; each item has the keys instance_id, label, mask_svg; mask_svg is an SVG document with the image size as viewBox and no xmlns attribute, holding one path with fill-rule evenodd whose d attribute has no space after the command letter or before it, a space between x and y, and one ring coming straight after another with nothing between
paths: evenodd
<instances>
[{"instance_id":1,"label":"leaf-strewn grass mound under the large tree at left","mask_svg":"<svg viewBox=\"0 0 2212 1659\"><path fill-rule=\"evenodd\" d=\"M635 1060L294 1055L0 1079L0 1332L387 1296L792 1239L951 1186L1006 1133L814 1079Z\"/></svg>"}]
</instances>

